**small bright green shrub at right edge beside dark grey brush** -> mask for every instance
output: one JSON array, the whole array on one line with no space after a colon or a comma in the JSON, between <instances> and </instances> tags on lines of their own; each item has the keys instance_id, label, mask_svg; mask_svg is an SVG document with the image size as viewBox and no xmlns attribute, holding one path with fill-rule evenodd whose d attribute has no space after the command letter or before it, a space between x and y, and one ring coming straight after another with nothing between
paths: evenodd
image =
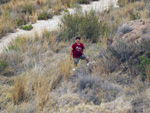
<instances>
[{"instance_id":1,"label":"small bright green shrub at right edge beside dark grey brush","mask_svg":"<svg viewBox=\"0 0 150 113\"><path fill-rule=\"evenodd\" d=\"M150 66L150 58L144 57L144 56L140 56L139 57L140 60L140 69L141 69L141 74L143 76L146 76L146 66Z\"/></svg>"}]
</instances>

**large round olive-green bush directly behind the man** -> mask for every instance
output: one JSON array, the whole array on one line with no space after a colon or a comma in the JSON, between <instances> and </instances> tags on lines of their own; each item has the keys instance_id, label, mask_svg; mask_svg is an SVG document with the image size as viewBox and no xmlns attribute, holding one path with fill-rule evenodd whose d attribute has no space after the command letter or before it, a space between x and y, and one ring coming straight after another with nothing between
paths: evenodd
<instances>
[{"instance_id":1,"label":"large round olive-green bush directly behind the man","mask_svg":"<svg viewBox=\"0 0 150 113\"><path fill-rule=\"evenodd\" d=\"M60 37L70 40L75 36L81 36L96 42L101 33L102 24L94 11L89 13L66 14L61 18Z\"/></svg>"}]
</instances>

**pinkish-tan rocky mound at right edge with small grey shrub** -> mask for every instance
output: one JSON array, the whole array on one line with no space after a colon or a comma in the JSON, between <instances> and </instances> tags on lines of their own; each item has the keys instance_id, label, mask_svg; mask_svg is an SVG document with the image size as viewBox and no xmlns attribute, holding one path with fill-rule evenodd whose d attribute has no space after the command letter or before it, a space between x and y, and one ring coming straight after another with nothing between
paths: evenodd
<instances>
[{"instance_id":1,"label":"pinkish-tan rocky mound at right edge with small grey shrub","mask_svg":"<svg viewBox=\"0 0 150 113\"><path fill-rule=\"evenodd\" d=\"M113 38L115 43L117 40L123 40L127 43L142 43L150 40L150 20L135 20L127 22L120 26L118 33Z\"/></svg>"}]
</instances>

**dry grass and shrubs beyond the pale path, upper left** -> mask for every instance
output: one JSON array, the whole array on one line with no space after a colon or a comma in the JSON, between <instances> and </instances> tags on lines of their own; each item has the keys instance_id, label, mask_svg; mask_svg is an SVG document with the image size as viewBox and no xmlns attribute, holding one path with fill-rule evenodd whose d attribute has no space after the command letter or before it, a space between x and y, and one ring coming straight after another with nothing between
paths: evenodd
<instances>
[{"instance_id":1,"label":"dry grass and shrubs beyond the pale path, upper left","mask_svg":"<svg viewBox=\"0 0 150 113\"><path fill-rule=\"evenodd\" d=\"M95 1L95 0L93 0ZM35 0L35 1L20 1L20 0L2 0L3 5L0 8L0 37L7 33L14 31L18 26L35 23L37 19L46 20L53 17L53 15L60 14L61 11L66 10L67 7L73 7L75 2L83 3L78 0ZM7 4L4 4L7 3ZM52 10L52 12L49 12ZM9 15L9 22L3 19L4 15ZM15 16L14 16L15 15ZM14 21L16 20L16 22ZM5 26L8 29L5 29ZM10 30L9 30L10 29Z\"/></svg>"}]
</instances>

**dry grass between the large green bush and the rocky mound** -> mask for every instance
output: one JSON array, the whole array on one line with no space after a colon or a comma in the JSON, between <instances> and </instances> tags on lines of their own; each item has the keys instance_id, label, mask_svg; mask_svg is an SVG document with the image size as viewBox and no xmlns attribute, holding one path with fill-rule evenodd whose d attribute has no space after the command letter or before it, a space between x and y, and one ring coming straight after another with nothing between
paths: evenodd
<instances>
[{"instance_id":1,"label":"dry grass between the large green bush and the rocky mound","mask_svg":"<svg viewBox=\"0 0 150 113\"><path fill-rule=\"evenodd\" d=\"M145 15L145 10L147 8L145 7L145 3L143 1L136 1L133 3L127 4L125 7L120 8L114 8L106 10L100 14L100 19L104 21L104 23L107 24L107 28L109 28L107 37L113 37L116 32L118 31L118 27L126 22L129 22L131 20L136 19L146 19L149 18L148 15ZM131 28L125 28L131 31ZM125 30L124 29L124 30Z\"/></svg>"}]
</instances>

